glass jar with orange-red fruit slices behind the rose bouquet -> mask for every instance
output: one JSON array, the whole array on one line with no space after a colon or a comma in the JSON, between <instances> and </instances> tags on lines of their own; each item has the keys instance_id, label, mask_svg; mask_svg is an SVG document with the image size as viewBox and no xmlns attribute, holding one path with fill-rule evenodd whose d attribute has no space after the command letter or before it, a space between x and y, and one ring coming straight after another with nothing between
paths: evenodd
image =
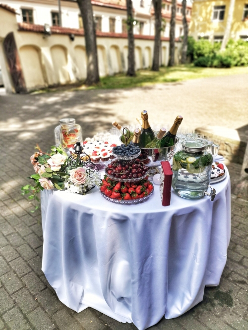
<instances>
[{"instance_id":1,"label":"glass jar with orange-red fruit slices behind the rose bouquet","mask_svg":"<svg viewBox=\"0 0 248 330\"><path fill-rule=\"evenodd\" d=\"M60 119L60 126L55 128L56 146L62 144L63 150L69 153L69 148L73 148L77 141L83 142L81 126L76 124L74 118Z\"/></svg>"}]
</instances>

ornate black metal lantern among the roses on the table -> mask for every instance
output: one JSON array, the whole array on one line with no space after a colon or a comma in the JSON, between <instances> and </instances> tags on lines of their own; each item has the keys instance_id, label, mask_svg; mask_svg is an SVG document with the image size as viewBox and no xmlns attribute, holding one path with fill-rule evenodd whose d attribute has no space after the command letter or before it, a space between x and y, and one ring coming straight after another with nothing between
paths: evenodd
<instances>
[{"instance_id":1,"label":"ornate black metal lantern among the roses on the table","mask_svg":"<svg viewBox=\"0 0 248 330\"><path fill-rule=\"evenodd\" d=\"M89 177L93 177L93 174L95 171L99 172L99 169L97 167L97 165L93 164L90 160L90 156L87 155L84 151L83 151L83 147L81 146L80 142L77 142L74 147L73 147L74 153L72 153L66 162L64 171L69 174L69 170L70 169L74 169L77 167L84 167L86 174ZM90 189L94 188L91 187L89 189L87 189L84 192L89 191Z\"/></svg>"}]
</instances>

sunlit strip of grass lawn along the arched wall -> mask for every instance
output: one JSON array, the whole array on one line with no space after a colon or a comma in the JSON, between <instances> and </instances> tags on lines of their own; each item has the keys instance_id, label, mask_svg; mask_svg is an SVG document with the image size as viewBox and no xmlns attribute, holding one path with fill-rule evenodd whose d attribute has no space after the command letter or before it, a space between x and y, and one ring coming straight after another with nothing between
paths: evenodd
<instances>
[{"instance_id":1,"label":"sunlit strip of grass lawn along the arched wall","mask_svg":"<svg viewBox=\"0 0 248 330\"><path fill-rule=\"evenodd\" d=\"M177 82L188 79L206 78L213 76L224 76L231 74L248 74L248 66L246 67L232 67L232 68L205 68L196 67L193 64L177 65L174 67L161 67L159 72L151 70L138 70L135 77L127 77L124 73L118 73L114 76L107 76L101 78L99 84L87 87L84 84L74 84L67 86L60 86L55 88L47 88L33 92L47 93L54 92L61 89L70 91L87 90L87 89L116 89L116 88L131 88L151 85L156 83Z\"/></svg>"}]
</instances>

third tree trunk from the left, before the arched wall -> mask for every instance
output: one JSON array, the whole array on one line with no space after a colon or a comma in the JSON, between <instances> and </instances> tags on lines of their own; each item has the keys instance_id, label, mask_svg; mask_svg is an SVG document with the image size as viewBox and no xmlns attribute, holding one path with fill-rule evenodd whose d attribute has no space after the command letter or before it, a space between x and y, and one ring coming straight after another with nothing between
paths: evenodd
<instances>
[{"instance_id":1,"label":"third tree trunk from the left, before the arched wall","mask_svg":"<svg viewBox=\"0 0 248 330\"><path fill-rule=\"evenodd\" d=\"M162 0L152 0L155 14L155 38L154 38L154 51L152 70L159 71L159 59L161 48L161 21L162 21Z\"/></svg>"}]
</instances>

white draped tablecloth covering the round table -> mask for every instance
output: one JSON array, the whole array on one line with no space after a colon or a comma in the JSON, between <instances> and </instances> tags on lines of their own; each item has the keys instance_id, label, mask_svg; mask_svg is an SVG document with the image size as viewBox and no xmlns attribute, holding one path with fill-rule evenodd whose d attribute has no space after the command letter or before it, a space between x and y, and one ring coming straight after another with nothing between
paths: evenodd
<instances>
[{"instance_id":1,"label":"white draped tablecloth covering the round table","mask_svg":"<svg viewBox=\"0 0 248 330\"><path fill-rule=\"evenodd\" d=\"M226 169L227 170L227 169ZM172 191L163 207L159 187L137 205L87 195L42 191L42 270L59 299L88 306L139 330L176 318L218 285L230 240L230 178L217 195L186 200Z\"/></svg>"}]
</instances>

